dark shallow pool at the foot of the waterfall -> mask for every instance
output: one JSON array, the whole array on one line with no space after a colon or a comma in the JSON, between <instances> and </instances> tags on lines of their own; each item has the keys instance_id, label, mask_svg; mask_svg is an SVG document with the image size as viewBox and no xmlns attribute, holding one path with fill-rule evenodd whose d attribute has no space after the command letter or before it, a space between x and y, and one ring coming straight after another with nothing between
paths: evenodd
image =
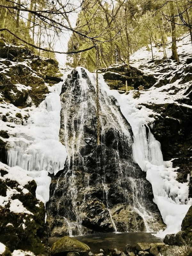
<instances>
[{"instance_id":1,"label":"dark shallow pool at the foot of the waterfall","mask_svg":"<svg viewBox=\"0 0 192 256\"><path fill-rule=\"evenodd\" d=\"M99 249L103 249L104 251L107 251L108 249L113 249L113 248L124 251L126 244L135 245L139 242L140 243L162 242L161 238L153 236L152 233L145 233L145 232L98 233L98 234L90 234L90 235L84 235L84 236L74 236L74 238L87 244L90 247L91 251L94 253L98 253Z\"/></svg>"}]
</instances>

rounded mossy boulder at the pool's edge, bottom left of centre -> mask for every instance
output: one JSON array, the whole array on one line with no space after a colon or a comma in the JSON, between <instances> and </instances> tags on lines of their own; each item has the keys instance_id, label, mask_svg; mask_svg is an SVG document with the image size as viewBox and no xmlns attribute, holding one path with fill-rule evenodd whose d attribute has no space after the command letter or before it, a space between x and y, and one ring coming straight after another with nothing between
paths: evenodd
<instances>
[{"instance_id":1,"label":"rounded mossy boulder at the pool's edge, bottom left of centre","mask_svg":"<svg viewBox=\"0 0 192 256\"><path fill-rule=\"evenodd\" d=\"M90 248L88 245L69 236L62 237L51 247L52 255L64 254L67 252L79 252L80 255L87 255L90 252Z\"/></svg>"}]
</instances>

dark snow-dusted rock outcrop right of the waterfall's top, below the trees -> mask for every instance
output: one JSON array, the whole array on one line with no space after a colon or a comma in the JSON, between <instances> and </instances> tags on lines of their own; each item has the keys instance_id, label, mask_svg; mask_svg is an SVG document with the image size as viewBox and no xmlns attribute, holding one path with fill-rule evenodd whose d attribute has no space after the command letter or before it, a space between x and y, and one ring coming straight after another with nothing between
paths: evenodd
<instances>
[{"instance_id":1,"label":"dark snow-dusted rock outcrop right of the waterfall's top, below the trees","mask_svg":"<svg viewBox=\"0 0 192 256\"><path fill-rule=\"evenodd\" d=\"M105 82L111 89L125 86L126 80L128 86L132 86L134 89L140 85L144 86L144 89L148 89L156 83L156 78L153 75L144 75L138 68L128 67L127 64L114 65L101 69L101 72L104 73Z\"/></svg>"}]
</instances>

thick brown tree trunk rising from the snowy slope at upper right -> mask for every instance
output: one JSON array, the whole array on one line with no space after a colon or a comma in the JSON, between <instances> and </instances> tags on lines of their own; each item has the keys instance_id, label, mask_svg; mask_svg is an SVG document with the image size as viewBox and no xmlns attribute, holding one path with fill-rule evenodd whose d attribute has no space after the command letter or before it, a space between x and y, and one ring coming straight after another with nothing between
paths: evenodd
<instances>
[{"instance_id":1,"label":"thick brown tree trunk rising from the snowy slope at upper right","mask_svg":"<svg viewBox=\"0 0 192 256\"><path fill-rule=\"evenodd\" d=\"M177 54L177 43L176 43L176 25L175 25L175 8L172 1L170 1L170 14L171 14L171 31L172 31L172 58L179 64L179 57Z\"/></svg>"}]
</instances>

